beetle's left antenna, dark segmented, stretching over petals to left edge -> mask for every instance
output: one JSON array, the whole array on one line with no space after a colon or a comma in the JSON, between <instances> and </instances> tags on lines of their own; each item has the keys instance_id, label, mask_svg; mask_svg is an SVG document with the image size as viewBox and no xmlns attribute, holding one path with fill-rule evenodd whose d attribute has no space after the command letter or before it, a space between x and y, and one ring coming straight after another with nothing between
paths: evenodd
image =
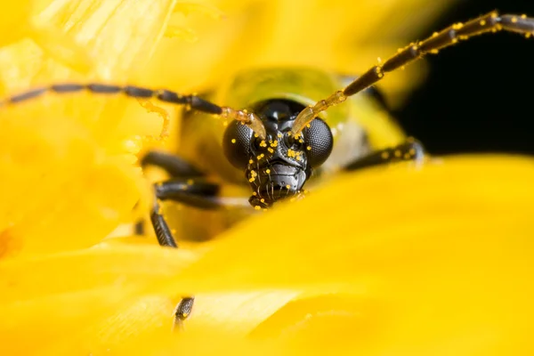
<instances>
[{"instance_id":1,"label":"beetle's left antenna, dark segmented, stretching over petals to left edge","mask_svg":"<svg viewBox=\"0 0 534 356\"><path fill-rule=\"evenodd\" d=\"M96 94L125 94L128 97L136 99L155 99L158 101L174 104L184 105L189 109L193 109L206 114L215 115L223 118L230 118L237 120L243 125L250 127L255 134L265 139L266 132L263 127L262 120L254 113L249 113L244 110L236 110L228 107L220 107L213 102L206 101L196 95L182 95L166 89L152 90L134 85L107 85L107 84L57 84L49 85L36 89L31 89L28 92L13 95L9 98L0 101L0 107L19 104L23 101L33 100L44 93L77 93L88 91Z\"/></svg>"}]
</instances>

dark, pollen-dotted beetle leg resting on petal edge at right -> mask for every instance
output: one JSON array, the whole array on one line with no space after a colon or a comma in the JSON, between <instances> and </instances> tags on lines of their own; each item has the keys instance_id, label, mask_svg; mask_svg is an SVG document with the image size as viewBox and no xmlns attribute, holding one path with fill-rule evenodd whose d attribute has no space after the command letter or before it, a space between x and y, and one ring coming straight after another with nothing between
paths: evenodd
<instances>
[{"instance_id":1,"label":"dark, pollen-dotted beetle leg resting on petal edge at right","mask_svg":"<svg viewBox=\"0 0 534 356\"><path fill-rule=\"evenodd\" d=\"M421 162L424 157L425 149L423 148L423 145L420 142L410 138L406 142L403 142L395 147L384 150L376 150L370 153L368 156L357 158L347 166L344 166L344 170L355 171L362 168L368 168L370 166L379 166L401 161Z\"/></svg>"}]
</instances>

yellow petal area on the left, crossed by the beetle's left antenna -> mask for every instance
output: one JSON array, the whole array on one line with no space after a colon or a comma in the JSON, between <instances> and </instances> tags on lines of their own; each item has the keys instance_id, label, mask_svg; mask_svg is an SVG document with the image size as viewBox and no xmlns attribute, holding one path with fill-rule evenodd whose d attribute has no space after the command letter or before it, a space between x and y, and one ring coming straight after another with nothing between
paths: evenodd
<instances>
[{"instance_id":1,"label":"yellow petal area on the left, crossed by the beetle's left antenna","mask_svg":"<svg viewBox=\"0 0 534 356\"><path fill-rule=\"evenodd\" d=\"M0 49L3 96L58 81L134 81L163 35L174 1L57 0L39 8L39 23L61 28L98 62L82 75L34 41L20 40ZM137 101L87 93L4 107L0 255L91 246L128 218L148 191L134 154L143 136L158 136L162 116L165 111L143 109Z\"/></svg>"}]
</instances>

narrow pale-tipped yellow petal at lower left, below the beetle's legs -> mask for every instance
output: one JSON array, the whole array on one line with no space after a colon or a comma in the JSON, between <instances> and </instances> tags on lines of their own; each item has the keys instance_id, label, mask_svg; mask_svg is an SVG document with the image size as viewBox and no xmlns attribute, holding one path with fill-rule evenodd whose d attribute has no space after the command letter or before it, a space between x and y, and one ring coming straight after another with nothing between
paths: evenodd
<instances>
[{"instance_id":1,"label":"narrow pale-tipped yellow petal at lower left, below the beetle's legs","mask_svg":"<svg viewBox=\"0 0 534 356\"><path fill-rule=\"evenodd\" d=\"M0 262L0 300L14 303L101 287L137 287L170 278L197 257L189 250L102 244L91 249ZM177 292L180 292L178 290Z\"/></svg>"}]
</instances>

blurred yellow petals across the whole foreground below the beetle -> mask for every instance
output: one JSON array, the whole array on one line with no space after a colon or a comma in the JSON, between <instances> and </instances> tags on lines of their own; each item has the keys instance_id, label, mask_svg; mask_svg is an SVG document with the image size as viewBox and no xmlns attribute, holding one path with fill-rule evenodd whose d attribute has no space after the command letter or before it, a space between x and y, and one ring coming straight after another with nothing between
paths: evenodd
<instances>
[{"instance_id":1,"label":"blurred yellow petals across the whole foreground below the beetle","mask_svg":"<svg viewBox=\"0 0 534 356\"><path fill-rule=\"evenodd\" d=\"M38 354L528 355L533 176L531 158L398 165L340 177L189 258L117 242L4 261L2 335L46 328Z\"/></svg>"}]
</instances>

